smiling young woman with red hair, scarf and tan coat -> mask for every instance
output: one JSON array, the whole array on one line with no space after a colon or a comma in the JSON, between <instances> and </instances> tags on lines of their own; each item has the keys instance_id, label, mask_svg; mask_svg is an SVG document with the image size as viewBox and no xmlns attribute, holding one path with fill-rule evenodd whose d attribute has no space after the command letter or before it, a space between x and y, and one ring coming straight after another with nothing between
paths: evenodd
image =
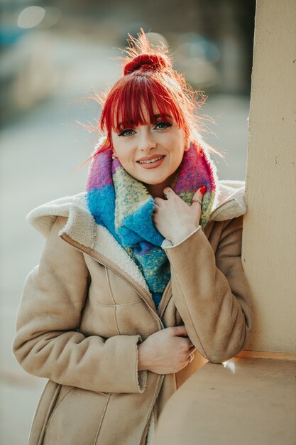
<instances>
[{"instance_id":1,"label":"smiling young woman with red hair, scarf and tan coat","mask_svg":"<svg viewBox=\"0 0 296 445\"><path fill-rule=\"evenodd\" d=\"M194 105L141 33L104 101L86 193L28 216L47 238L13 343L48 378L31 445L152 444L177 387L248 341L243 187L217 180Z\"/></svg>"}]
</instances>

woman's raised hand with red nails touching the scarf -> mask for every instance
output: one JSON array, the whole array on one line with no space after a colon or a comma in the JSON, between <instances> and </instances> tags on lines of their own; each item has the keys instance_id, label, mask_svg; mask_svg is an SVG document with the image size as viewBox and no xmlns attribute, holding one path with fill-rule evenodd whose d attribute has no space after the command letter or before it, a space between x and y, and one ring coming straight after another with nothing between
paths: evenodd
<instances>
[{"instance_id":1,"label":"woman's raised hand with red nails touching the scarf","mask_svg":"<svg viewBox=\"0 0 296 445\"><path fill-rule=\"evenodd\" d=\"M202 201L204 191L204 187L199 188L192 200ZM163 193L167 199L154 198L153 222L163 237L170 240L172 244L177 244L198 227L202 206L197 201L192 202L192 205L187 205L169 187L166 187Z\"/></svg>"}]
</instances>

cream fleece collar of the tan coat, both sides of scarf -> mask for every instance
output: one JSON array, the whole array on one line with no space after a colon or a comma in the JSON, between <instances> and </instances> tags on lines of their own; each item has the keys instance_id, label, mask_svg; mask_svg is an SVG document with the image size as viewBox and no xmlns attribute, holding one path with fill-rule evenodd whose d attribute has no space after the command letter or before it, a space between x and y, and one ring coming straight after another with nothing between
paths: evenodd
<instances>
[{"instance_id":1,"label":"cream fleece collar of the tan coat, both sides of scarf","mask_svg":"<svg viewBox=\"0 0 296 445\"><path fill-rule=\"evenodd\" d=\"M243 181L219 181L210 220L224 221L246 213ZM127 252L102 225L97 225L85 203L85 193L65 196L40 205L28 214L28 222L48 237L58 216L67 218L60 236L67 235L80 245L99 252L150 294L143 274Z\"/></svg>"}]
</instances>

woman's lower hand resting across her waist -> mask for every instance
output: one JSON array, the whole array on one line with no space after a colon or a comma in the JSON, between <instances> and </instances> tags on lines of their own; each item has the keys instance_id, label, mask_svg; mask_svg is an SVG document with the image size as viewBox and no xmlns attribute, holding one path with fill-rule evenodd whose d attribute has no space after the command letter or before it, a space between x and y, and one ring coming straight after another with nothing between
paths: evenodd
<instances>
[{"instance_id":1,"label":"woman's lower hand resting across her waist","mask_svg":"<svg viewBox=\"0 0 296 445\"><path fill-rule=\"evenodd\" d=\"M185 326L165 328L138 345L138 370L173 374L192 361L194 350Z\"/></svg>"}]
</instances>

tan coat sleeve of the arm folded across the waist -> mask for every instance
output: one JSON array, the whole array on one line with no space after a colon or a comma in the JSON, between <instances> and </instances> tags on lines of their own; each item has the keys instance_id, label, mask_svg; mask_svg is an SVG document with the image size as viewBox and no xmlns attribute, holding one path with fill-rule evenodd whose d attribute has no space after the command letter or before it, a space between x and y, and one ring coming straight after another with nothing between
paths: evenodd
<instances>
[{"instance_id":1,"label":"tan coat sleeve of the arm folded across the waist","mask_svg":"<svg viewBox=\"0 0 296 445\"><path fill-rule=\"evenodd\" d=\"M26 279L13 353L33 375L96 392L143 392L140 336L85 337L79 332L89 272L82 252L60 239L57 218L39 267Z\"/></svg>"}]
</instances>

